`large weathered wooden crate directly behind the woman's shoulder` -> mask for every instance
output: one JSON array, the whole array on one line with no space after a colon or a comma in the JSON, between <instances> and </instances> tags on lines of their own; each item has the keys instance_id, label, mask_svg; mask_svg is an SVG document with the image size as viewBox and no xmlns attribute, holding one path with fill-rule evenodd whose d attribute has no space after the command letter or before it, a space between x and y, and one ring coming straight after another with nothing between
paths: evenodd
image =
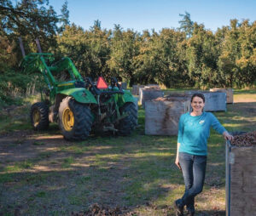
<instances>
[{"instance_id":1,"label":"large weathered wooden crate directly behind the woman's shoulder","mask_svg":"<svg viewBox=\"0 0 256 216\"><path fill-rule=\"evenodd\" d=\"M158 98L145 102L145 134L177 135L179 117L189 111L183 97Z\"/></svg>"}]
</instances>

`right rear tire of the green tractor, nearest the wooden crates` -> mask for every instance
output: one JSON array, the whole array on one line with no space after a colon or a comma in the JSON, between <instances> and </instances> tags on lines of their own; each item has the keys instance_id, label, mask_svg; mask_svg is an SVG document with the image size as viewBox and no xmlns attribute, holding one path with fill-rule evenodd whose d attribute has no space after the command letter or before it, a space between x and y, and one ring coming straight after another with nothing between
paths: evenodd
<instances>
[{"instance_id":1,"label":"right rear tire of the green tractor, nearest the wooden crates","mask_svg":"<svg viewBox=\"0 0 256 216\"><path fill-rule=\"evenodd\" d=\"M120 113L128 113L128 116L121 119L118 125L118 134L130 135L131 131L137 126L137 109L134 103L125 103L120 108Z\"/></svg>"}]
</instances>

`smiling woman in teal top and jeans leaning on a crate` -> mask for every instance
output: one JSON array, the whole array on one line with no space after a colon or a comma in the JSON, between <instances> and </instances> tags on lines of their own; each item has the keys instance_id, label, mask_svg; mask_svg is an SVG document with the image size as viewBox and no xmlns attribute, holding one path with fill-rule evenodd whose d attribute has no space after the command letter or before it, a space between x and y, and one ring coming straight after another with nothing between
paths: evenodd
<instances>
[{"instance_id":1,"label":"smiling woman in teal top and jeans leaning on a crate","mask_svg":"<svg viewBox=\"0 0 256 216\"><path fill-rule=\"evenodd\" d=\"M195 215L195 196L201 193L207 167L207 139L214 128L224 139L233 139L211 112L204 112L205 97L193 94L192 111L183 114L178 123L176 165L183 172L185 192L175 201L176 215L183 215L184 206L189 215Z\"/></svg>"}]
</instances>

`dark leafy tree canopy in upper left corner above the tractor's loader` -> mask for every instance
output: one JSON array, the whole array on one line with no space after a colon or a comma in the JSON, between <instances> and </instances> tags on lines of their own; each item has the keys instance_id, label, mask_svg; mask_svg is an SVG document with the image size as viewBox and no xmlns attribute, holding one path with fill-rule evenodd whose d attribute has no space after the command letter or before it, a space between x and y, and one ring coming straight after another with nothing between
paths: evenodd
<instances>
[{"instance_id":1,"label":"dark leafy tree canopy in upper left corner above the tractor's loader","mask_svg":"<svg viewBox=\"0 0 256 216\"><path fill-rule=\"evenodd\" d=\"M22 37L26 54L37 52L34 42L39 39L42 49L47 52L55 47L55 35L58 31L58 15L48 0L0 1L0 31L3 31L10 43L15 43L14 54L21 59L18 37ZM14 62L15 66L17 62Z\"/></svg>"}]
</instances>

